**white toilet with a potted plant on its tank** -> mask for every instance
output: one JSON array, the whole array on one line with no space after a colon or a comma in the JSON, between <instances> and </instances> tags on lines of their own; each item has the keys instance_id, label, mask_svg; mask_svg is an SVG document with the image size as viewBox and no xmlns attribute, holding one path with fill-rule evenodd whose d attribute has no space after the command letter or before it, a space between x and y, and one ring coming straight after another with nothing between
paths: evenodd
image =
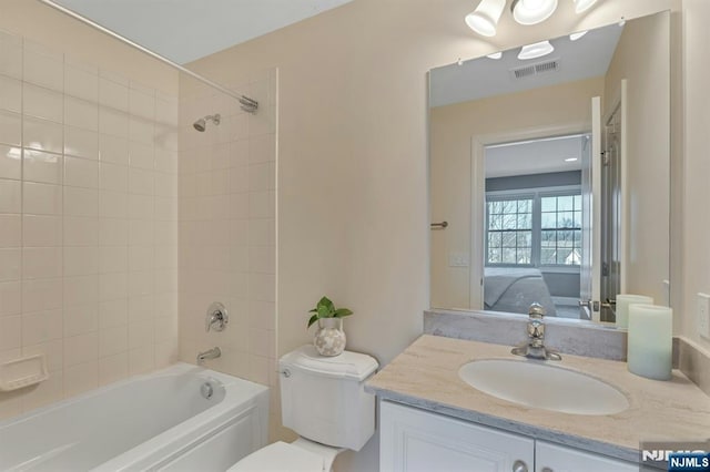
<instances>
[{"instance_id":1,"label":"white toilet with a potted plant on its tank","mask_svg":"<svg viewBox=\"0 0 710 472\"><path fill-rule=\"evenodd\" d=\"M359 451L375 432L375 396L364 387L377 367L367 355L322 357L310 345L282 357L282 421L300 437L260 449L230 471L328 472L338 453Z\"/></svg>"}]
</instances>

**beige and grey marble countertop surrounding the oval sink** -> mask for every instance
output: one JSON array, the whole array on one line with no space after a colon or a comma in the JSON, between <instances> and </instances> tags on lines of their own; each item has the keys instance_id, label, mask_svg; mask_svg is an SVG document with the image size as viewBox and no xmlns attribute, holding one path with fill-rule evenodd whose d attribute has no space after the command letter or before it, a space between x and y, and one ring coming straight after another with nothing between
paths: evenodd
<instances>
[{"instance_id":1,"label":"beige and grey marble countertop surrounding the oval sink","mask_svg":"<svg viewBox=\"0 0 710 472\"><path fill-rule=\"evenodd\" d=\"M638 462L641 441L710 438L710 397L680 371L669 381L627 370L626 362L562 355L554 366L584 372L619 389L629 408L617 414L579 415L528 408L491 397L459 379L477 359L517 359L510 347L424 335L382 371L366 390L384 400Z\"/></svg>"}]
</instances>

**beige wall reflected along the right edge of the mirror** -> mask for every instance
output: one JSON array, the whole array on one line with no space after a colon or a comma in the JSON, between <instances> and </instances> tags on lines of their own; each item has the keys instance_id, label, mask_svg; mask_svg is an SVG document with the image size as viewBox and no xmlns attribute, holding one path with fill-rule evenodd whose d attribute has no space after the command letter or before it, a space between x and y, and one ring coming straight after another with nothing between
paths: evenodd
<instances>
[{"instance_id":1,"label":"beige wall reflected along the right edge of the mirror","mask_svg":"<svg viewBox=\"0 0 710 472\"><path fill-rule=\"evenodd\" d=\"M665 305L670 277L670 23L657 14L627 22L605 78L609 116L627 80L626 176L622 175L626 293ZM622 173L623 174L623 173Z\"/></svg>"}]
</instances>

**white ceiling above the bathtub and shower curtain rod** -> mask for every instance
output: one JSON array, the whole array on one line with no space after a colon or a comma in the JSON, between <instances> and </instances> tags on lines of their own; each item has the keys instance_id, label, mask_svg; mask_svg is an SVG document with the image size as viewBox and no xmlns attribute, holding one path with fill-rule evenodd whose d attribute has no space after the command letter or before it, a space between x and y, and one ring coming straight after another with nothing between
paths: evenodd
<instances>
[{"instance_id":1,"label":"white ceiling above the bathtub and shower curtain rod","mask_svg":"<svg viewBox=\"0 0 710 472\"><path fill-rule=\"evenodd\" d=\"M54 0L184 64L352 0Z\"/></svg>"}]
</instances>

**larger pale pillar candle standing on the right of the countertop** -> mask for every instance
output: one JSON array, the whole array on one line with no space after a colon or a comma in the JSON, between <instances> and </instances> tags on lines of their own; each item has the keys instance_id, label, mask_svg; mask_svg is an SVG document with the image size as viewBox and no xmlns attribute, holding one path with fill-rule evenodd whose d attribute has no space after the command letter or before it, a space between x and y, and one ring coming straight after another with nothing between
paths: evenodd
<instances>
[{"instance_id":1,"label":"larger pale pillar candle standing on the right of the countertop","mask_svg":"<svg viewBox=\"0 0 710 472\"><path fill-rule=\"evenodd\" d=\"M657 305L629 307L629 371L656 380L669 380L672 369L673 310Z\"/></svg>"}]
</instances>

